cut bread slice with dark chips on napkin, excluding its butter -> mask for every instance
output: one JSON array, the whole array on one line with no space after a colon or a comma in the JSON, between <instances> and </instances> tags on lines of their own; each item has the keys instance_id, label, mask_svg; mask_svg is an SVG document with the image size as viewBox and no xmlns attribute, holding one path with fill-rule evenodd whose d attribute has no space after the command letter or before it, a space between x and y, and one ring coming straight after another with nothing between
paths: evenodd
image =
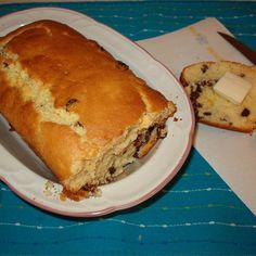
<instances>
[{"instance_id":1,"label":"cut bread slice with dark chips on napkin, excluding its butter","mask_svg":"<svg viewBox=\"0 0 256 256\"><path fill-rule=\"evenodd\" d=\"M252 85L241 104L235 104L213 89L229 72ZM235 62L201 62L183 68L180 81L190 95L197 121L252 133L256 129L256 66Z\"/></svg>"}]
</instances>

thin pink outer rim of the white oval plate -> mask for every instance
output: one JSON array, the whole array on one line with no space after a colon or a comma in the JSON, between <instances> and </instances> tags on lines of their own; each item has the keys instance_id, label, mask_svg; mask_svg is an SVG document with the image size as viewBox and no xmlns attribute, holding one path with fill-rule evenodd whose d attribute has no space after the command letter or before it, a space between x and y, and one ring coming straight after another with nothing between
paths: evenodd
<instances>
[{"instance_id":1,"label":"thin pink outer rim of the white oval plate","mask_svg":"<svg viewBox=\"0 0 256 256\"><path fill-rule=\"evenodd\" d=\"M118 33L115 29L108 27L107 25L105 25L103 23L100 23L100 22L97 22L95 20L91 18L90 16L87 16L84 13L73 11L71 9L65 9L65 8L52 8L52 7L46 8L46 7L42 7L42 8L30 8L30 9L25 9L25 10L22 10L22 11L12 12L12 13L9 13L9 14L5 14L5 15L1 16L0 20L4 18L7 16L12 16L12 15L29 14L29 12L31 12L31 11L40 11L40 10L43 10L43 11L49 11L49 10L51 11L52 10L52 11L59 11L59 12L64 12L64 13L71 13L71 14L79 16L80 18L87 18L88 17L88 18L91 20L92 24L99 24L99 25L103 26L104 28L111 30L112 33L115 33L119 37L123 37L123 39L125 39L129 43L136 46L138 48L138 50L143 51L148 55L150 55L151 59L153 59L162 68L164 68L172 77L172 79L176 80L176 85L179 86L180 89L183 91L183 95L187 99L187 103L189 104L189 113L190 113L190 117L191 117L191 124L190 124L190 128L188 129L188 135L187 135L188 136L188 142L187 142L185 148L183 149L183 154L180 156L180 159L179 159L178 164L175 165L175 168L171 168L169 175L167 177L165 177L165 179L163 179L162 182L157 183L157 185L155 185L153 189L151 189L145 194L143 193L143 195L140 196L139 199L137 199L137 200L133 200L129 203L124 203L124 204L118 204L118 205L113 205L113 206L106 206L105 208L98 209L98 210L68 212L68 210L57 209L57 208L44 205L43 203L40 203L40 202L25 195L18 189L16 189L14 185L12 185L12 183L10 181L8 181L4 177L2 177L1 174L0 174L0 180L2 182L4 182L10 188L10 190L13 191L16 195L18 195L24 201L30 203L31 205L34 205L34 206L36 206L40 209L43 209L46 212L54 213L54 214L62 215L62 216L69 216L69 217L101 217L101 216L112 214L114 212L119 212L119 210L124 210L124 209L127 209L127 208L131 208L131 207L149 200L150 197L155 195L157 192L159 192L177 175L177 172L180 170L180 168L184 164L185 159L188 158L189 153L190 153L191 148L192 148L192 144L193 144L193 138L194 138L194 131L195 131L195 117L194 117L194 112L193 112L191 101L189 100L189 97L185 93L184 88L181 86L179 80L174 76L174 74L171 73L171 71L168 67L166 67L163 63L157 61L151 53L149 53L145 49L140 47L137 42L130 40L129 38L125 37L120 33ZM42 18L38 18L38 20L42 20ZM43 193L43 192L41 192L41 193Z\"/></svg>"}]
</instances>

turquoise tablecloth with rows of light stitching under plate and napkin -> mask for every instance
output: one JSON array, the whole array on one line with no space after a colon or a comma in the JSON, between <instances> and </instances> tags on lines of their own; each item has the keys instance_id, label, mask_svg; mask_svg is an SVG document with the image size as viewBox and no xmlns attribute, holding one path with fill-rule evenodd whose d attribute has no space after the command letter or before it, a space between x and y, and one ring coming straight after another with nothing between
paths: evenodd
<instances>
[{"instance_id":1,"label":"turquoise tablecloth with rows of light stitching under plate and napkin","mask_svg":"<svg viewBox=\"0 0 256 256\"><path fill-rule=\"evenodd\" d=\"M256 50L256 2L21 3L0 5L0 15L36 7L85 13L131 40L215 16ZM0 254L256 255L256 217L193 148L178 176L151 200L99 218L43 212L0 182Z\"/></svg>"}]
</instances>

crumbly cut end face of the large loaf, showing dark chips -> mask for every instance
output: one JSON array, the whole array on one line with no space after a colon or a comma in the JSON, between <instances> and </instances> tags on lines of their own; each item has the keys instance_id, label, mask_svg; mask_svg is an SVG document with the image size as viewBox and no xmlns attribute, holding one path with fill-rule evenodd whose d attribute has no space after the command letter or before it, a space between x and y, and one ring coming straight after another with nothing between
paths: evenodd
<instances>
[{"instance_id":1,"label":"crumbly cut end face of the large loaf, showing dark chips","mask_svg":"<svg viewBox=\"0 0 256 256\"><path fill-rule=\"evenodd\" d=\"M116 180L125 171L127 165L146 155L159 139L167 136L166 120L175 112L176 106L169 104L162 115L154 116L154 121L141 120L140 125L131 127L121 137L113 140L93 159L77 161L73 165L75 175L63 181L64 187L75 193L85 190L98 195L99 185ZM148 116L144 117L144 119L148 118Z\"/></svg>"}]
</instances>

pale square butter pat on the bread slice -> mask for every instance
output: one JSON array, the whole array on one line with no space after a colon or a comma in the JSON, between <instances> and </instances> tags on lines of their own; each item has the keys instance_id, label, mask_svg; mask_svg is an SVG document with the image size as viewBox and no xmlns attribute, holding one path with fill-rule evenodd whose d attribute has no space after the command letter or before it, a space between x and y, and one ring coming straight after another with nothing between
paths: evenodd
<instances>
[{"instance_id":1,"label":"pale square butter pat on the bread slice","mask_svg":"<svg viewBox=\"0 0 256 256\"><path fill-rule=\"evenodd\" d=\"M219 95L234 104L241 104L251 88L252 84L230 72L227 72L214 86Z\"/></svg>"}]
</instances>

